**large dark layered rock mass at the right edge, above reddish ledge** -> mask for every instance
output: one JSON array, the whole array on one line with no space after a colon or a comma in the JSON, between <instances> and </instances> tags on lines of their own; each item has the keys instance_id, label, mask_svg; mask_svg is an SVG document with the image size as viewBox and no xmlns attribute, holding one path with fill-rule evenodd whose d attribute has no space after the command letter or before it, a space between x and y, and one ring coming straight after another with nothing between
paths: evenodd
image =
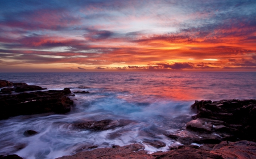
<instances>
[{"instance_id":1,"label":"large dark layered rock mass at the right edge, above reddish ledge","mask_svg":"<svg viewBox=\"0 0 256 159\"><path fill-rule=\"evenodd\" d=\"M256 100L196 101L191 108L197 114L187 123L188 129L256 141Z\"/></svg>"}]
</instances>

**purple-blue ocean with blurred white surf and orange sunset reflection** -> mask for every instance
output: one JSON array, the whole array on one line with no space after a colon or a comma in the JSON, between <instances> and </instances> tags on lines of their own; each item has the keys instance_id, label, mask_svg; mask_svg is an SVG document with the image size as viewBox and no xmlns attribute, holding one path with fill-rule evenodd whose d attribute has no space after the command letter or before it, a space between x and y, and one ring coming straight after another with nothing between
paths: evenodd
<instances>
[{"instance_id":1,"label":"purple-blue ocean with blurred white surf and orange sunset reflection","mask_svg":"<svg viewBox=\"0 0 256 159\"><path fill-rule=\"evenodd\" d=\"M0 73L0 79L49 89L89 91L70 98L67 114L22 115L0 121L0 155L56 158L81 147L98 148L142 143L148 153L177 144L164 135L174 132L174 118L193 115L195 100L256 98L256 72L72 72ZM134 121L105 131L78 130L74 123L103 119ZM39 134L26 137L23 132ZM155 148L147 141L161 141ZM20 147L20 149L19 149ZM24 147L24 148L23 148Z\"/></svg>"}]
</instances>

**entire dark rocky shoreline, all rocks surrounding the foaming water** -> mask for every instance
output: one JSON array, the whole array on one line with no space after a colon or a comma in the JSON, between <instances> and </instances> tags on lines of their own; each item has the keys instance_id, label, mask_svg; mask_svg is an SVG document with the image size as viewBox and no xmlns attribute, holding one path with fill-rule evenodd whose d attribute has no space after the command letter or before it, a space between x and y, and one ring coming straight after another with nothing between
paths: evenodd
<instances>
[{"instance_id":1,"label":"entire dark rocky shoreline, all rocks surrounding the foaming water","mask_svg":"<svg viewBox=\"0 0 256 159\"><path fill-rule=\"evenodd\" d=\"M12 83L0 80L0 119L16 115L40 113L67 113L73 106L68 96L73 96L69 88L63 90L42 91L36 85ZM29 92L27 92L29 91ZM89 93L89 92L73 92ZM196 113L188 117L175 118L179 130L164 132L176 145L167 152L148 154L141 143L112 148L82 148L81 152L60 158L256 158L256 100L195 101L191 111ZM77 123L76 128L90 131L105 131L122 127L135 121L105 119ZM28 130L24 135L34 135ZM149 141L153 147L165 147L160 141ZM95 149L97 148L97 149ZM90 151L88 151L90 150ZM0 158L21 158L15 155Z\"/></svg>"}]
</instances>

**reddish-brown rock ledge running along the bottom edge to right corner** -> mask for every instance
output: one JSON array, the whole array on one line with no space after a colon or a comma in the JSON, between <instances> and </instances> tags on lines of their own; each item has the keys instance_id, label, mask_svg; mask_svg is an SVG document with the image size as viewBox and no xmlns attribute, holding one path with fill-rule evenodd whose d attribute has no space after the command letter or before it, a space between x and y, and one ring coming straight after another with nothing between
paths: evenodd
<instances>
[{"instance_id":1,"label":"reddish-brown rock ledge running along the bottom edge to right corner","mask_svg":"<svg viewBox=\"0 0 256 159\"><path fill-rule=\"evenodd\" d=\"M155 152L152 154L148 154L144 151L144 147L141 144L131 144L124 147L114 145L113 148L99 148L60 158L243 159L255 157L256 143L253 141L237 141L235 143L222 141L220 144L205 144L201 147L196 145L182 145L167 152Z\"/></svg>"}]
</instances>

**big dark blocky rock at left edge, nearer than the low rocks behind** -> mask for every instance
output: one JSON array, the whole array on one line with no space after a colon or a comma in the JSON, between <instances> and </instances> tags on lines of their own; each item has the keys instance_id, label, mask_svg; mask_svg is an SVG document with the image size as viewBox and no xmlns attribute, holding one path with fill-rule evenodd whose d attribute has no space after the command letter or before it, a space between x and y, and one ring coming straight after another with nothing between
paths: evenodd
<instances>
[{"instance_id":1,"label":"big dark blocky rock at left edge, nearer than the low rocks behind","mask_svg":"<svg viewBox=\"0 0 256 159\"><path fill-rule=\"evenodd\" d=\"M16 115L31 115L40 113L67 113L71 110L73 101L66 95L71 92L64 90L49 90L0 96L0 119Z\"/></svg>"}]
</instances>

